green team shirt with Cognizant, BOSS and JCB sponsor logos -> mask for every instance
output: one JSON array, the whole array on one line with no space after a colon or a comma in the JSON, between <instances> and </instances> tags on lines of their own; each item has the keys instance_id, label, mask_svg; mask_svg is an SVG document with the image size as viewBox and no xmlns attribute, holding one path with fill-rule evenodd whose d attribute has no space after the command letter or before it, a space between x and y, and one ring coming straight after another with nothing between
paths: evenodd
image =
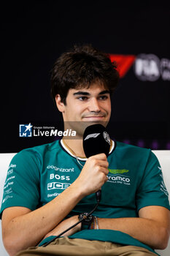
<instances>
[{"instance_id":1,"label":"green team shirt with Cognizant, BOSS and JCB sponsor logos","mask_svg":"<svg viewBox=\"0 0 170 256\"><path fill-rule=\"evenodd\" d=\"M60 141L20 151L9 165L1 212L11 206L23 206L32 211L44 206L79 176L85 160L79 162L64 150ZM93 215L101 218L138 217L139 209L144 206L170 209L161 167L150 149L117 142L108 162L109 179L102 187L101 202ZM89 212L95 204L96 195L88 195L68 217ZM115 230L82 230L71 238L95 238L149 247L125 233L119 232L117 236Z\"/></svg>"}]
</instances>

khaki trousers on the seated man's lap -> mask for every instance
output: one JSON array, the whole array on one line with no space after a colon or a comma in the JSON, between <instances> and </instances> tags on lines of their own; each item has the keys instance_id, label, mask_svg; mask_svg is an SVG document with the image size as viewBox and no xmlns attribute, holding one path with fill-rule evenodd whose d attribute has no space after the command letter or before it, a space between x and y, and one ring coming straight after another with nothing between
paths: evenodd
<instances>
[{"instance_id":1,"label":"khaki trousers on the seated man's lap","mask_svg":"<svg viewBox=\"0 0 170 256\"><path fill-rule=\"evenodd\" d=\"M123 246L103 241L70 239L67 236L58 238L46 247L30 247L16 256L58 255L58 256L144 256L156 255L138 246Z\"/></svg>"}]
</instances>

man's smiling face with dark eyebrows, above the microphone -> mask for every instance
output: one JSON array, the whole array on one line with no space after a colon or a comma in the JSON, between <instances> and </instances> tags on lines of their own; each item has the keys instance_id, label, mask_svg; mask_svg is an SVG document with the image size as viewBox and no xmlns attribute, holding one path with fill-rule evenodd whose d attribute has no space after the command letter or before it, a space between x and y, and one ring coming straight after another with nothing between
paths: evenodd
<instances>
[{"instance_id":1,"label":"man's smiling face with dark eyebrows, above the microphone","mask_svg":"<svg viewBox=\"0 0 170 256\"><path fill-rule=\"evenodd\" d=\"M58 110L63 114L64 128L76 130L82 135L85 127L90 124L107 126L111 115L111 101L109 91L103 86L94 83L89 88L69 89L66 105L56 103Z\"/></svg>"}]
</instances>

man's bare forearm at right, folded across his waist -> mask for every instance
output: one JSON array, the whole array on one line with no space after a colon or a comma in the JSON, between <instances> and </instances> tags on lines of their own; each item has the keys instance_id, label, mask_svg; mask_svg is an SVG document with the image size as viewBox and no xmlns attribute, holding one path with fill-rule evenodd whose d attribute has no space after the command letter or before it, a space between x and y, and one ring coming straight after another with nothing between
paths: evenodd
<instances>
[{"instance_id":1,"label":"man's bare forearm at right, folded across his waist","mask_svg":"<svg viewBox=\"0 0 170 256\"><path fill-rule=\"evenodd\" d=\"M117 230L136 238L153 249L164 249L169 240L166 227L152 219L144 218L98 218L100 229Z\"/></svg>"}]
</instances>

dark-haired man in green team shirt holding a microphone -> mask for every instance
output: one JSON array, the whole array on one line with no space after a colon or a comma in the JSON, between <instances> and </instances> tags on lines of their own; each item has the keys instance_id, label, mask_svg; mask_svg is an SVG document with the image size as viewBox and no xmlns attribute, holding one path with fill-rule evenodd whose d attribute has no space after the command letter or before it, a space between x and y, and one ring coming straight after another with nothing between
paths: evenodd
<instances>
[{"instance_id":1,"label":"dark-haired man in green team shirt holding a microphone","mask_svg":"<svg viewBox=\"0 0 170 256\"><path fill-rule=\"evenodd\" d=\"M52 94L62 113L63 137L27 148L12 159L4 184L1 219L9 255L156 255L169 241L169 199L161 166L150 149L111 140L109 156L88 159L86 124L104 124L118 73L109 57L90 45L75 47L55 62ZM101 201L89 225L79 215ZM28 247L31 247L28 249Z\"/></svg>"}]
</instances>

